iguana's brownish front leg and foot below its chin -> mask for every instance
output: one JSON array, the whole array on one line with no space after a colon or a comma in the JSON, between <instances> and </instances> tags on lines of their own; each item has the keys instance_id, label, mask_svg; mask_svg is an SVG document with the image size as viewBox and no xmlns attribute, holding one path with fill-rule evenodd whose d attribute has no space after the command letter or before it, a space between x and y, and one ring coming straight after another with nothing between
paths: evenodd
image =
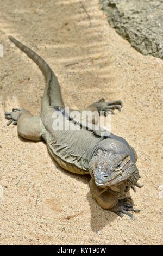
<instances>
[{"instance_id":1,"label":"iguana's brownish front leg and foot below its chin","mask_svg":"<svg viewBox=\"0 0 163 256\"><path fill-rule=\"evenodd\" d=\"M124 199L118 199L111 194L106 188L98 187L95 181L91 179L90 190L93 198L95 198L98 204L103 208L115 212L118 216L123 217L124 214L130 216L133 219L133 212L140 212L138 209L133 208L133 200L130 197Z\"/></svg>"}]
</instances>

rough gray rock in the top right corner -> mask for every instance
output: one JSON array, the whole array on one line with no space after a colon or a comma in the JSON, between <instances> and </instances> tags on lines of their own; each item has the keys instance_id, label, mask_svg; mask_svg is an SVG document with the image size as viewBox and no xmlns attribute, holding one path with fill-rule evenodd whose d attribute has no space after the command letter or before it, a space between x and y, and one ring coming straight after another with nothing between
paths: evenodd
<instances>
[{"instance_id":1,"label":"rough gray rock in the top right corner","mask_svg":"<svg viewBox=\"0 0 163 256\"><path fill-rule=\"evenodd\" d=\"M101 0L101 4L109 24L131 46L145 55L163 56L163 1Z\"/></svg>"}]
</instances>

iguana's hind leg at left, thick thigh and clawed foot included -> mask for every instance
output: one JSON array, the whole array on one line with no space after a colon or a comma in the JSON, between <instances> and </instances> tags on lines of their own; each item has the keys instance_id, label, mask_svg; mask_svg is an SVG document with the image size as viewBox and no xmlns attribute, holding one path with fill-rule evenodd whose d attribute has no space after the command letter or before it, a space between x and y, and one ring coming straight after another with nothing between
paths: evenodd
<instances>
[{"instance_id":1,"label":"iguana's hind leg at left, thick thigh and clawed foot included","mask_svg":"<svg viewBox=\"0 0 163 256\"><path fill-rule=\"evenodd\" d=\"M41 141L41 120L40 117L34 117L26 109L13 108L12 112L5 112L5 118L8 119L7 125L13 123L17 125L17 132L22 138L31 141Z\"/></svg>"}]
</instances>

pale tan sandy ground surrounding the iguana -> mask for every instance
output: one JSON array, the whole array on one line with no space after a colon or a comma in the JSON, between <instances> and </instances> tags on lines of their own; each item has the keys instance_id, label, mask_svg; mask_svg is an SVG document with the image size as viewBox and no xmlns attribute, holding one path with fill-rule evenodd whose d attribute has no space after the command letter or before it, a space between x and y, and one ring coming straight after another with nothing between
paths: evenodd
<instances>
[{"instance_id":1,"label":"pale tan sandy ground surrounding the iguana","mask_svg":"<svg viewBox=\"0 0 163 256\"><path fill-rule=\"evenodd\" d=\"M161 244L162 60L131 48L108 25L98 0L1 0L0 5L0 243ZM84 108L103 96L123 101L122 112L111 118L112 132L136 149L144 184L131 192L141 209L133 221L103 210L92 199L89 177L59 168L46 144L24 141L15 126L6 126L4 110L39 113L45 85L9 34L52 66L66 105ZM73 62L78 63L66 66Z\"/></svg>"}]
</instances>

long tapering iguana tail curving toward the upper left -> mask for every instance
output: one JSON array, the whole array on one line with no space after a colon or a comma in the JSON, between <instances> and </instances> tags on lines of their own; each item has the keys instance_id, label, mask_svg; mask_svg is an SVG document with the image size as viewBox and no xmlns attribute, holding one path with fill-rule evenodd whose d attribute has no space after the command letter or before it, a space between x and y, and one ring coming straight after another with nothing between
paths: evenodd
<instances>
[{"instance_id":1,"label":"long tapering iguana tail curving toward the upper left","mask_svg":"<svg viewBox=\"0 0 163 256\"><path fill-rule=\"evenodd\" d=\"M64 102L62 100L57 77L54 75L54 72L45 62L45 60L43 60L38 54L30 50L30 48L27 46L21 44L21 42L17 41L12 36L9 36L9 39L39 66L43 75L45 76L46 87L43 94L41 112L46 113L50 106L64 107Z\"/></svg>"}]
</instances>

